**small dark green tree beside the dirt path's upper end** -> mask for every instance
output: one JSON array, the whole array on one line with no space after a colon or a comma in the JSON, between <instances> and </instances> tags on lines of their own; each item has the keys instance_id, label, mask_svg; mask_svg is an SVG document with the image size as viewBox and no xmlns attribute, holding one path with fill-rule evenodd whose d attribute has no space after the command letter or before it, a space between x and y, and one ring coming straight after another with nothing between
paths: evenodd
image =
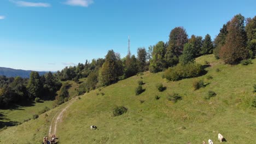
<instances>
[{"instance_id":1,"label":"small dark green tree beside the dirt path's upper end","mask_svg":"<svg viewBox=\"0 0 256 144\"><path fill-rule=\"evenodd\" d=\"M60 94L56 97L56 102L58 105L63 104L65 101L68 101L69 93L68 93L69 84L66 82L61 86Z\"/></svg>"}]
</instances>

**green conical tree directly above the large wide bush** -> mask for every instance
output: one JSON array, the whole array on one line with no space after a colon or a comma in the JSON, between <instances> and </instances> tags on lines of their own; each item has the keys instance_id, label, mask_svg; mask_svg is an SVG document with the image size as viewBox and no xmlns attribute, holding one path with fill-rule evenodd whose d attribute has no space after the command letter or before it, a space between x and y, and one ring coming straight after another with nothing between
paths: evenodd
<instances>
[{"instance_id":1,"label":"green conical tree directly above the large wide bush","mask_svg":"<svg viewBox=\"0 0 256 144\"><path fill-rule=\"evenodd\" d=\"M184 45L183 54L179 57L179 63L185 65L189 62L194 62L195 60L195 50L194 45L191 43L187 43Z\"/></svg>"}]
</instances>

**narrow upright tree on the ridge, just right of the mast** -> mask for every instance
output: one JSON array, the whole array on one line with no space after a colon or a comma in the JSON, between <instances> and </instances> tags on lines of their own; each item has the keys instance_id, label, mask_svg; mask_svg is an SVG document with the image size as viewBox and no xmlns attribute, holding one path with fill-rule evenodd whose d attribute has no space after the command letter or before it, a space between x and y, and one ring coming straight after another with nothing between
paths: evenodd
<instances>
[{"instance_id":1,"label":"narrow upright tree on the ridge, just right of the mast","mask_svg":"<svg viewBox=\"0 0 256 144\"><path fill-rule=\"evenodd\" d=\"M147 51L146 51L145 47L139 47L137 49L137 58L138 58L138 70L139 70L139 72L146 71Z\"/></svg>"}]
</instances>

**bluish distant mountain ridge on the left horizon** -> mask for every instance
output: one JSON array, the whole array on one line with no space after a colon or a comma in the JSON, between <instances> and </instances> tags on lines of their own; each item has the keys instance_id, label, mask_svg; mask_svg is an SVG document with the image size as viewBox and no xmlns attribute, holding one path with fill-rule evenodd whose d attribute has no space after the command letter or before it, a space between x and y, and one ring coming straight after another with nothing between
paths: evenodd
<instances>
[{"instance_id":1,"label":"bluish distant mountain ridge on the left horizon","mask_svg":"<svg viewBox=\"0 0 256 144\"><path fill-rule=\"evenodd\" d=\"M11 68L0 67L0 75L5 75L6 77L20 76L23 78L29 78L31 71L33 70L22 70L22 69L11 69ZM39 75L44 75L49 71L37 71L37 72L39 73ZM55 73L54 71L51 71L51 72Z\"/></svg>"}]
</instances>

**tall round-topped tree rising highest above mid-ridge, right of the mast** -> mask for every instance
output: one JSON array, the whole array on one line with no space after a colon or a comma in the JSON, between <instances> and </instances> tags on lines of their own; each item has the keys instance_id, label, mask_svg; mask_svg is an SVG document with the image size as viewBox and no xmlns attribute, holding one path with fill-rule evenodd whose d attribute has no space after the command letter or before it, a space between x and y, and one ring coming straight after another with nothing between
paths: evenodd
<instances>
[{"instance_id":1,"label":"tall round-topped tree rising highest above mid-ridge, right of the mast","mask_svg":"<svg viewBox=\"0 0 256 144\"><path fill-rule=\"evenodd\" d=\"M188 42L188 34L183 27L173 28L168 41L167 53L174 53L176 57L182 55L183 46ZM166 57L168 58L171 57Z\"/></svg>"}]
</instances>

